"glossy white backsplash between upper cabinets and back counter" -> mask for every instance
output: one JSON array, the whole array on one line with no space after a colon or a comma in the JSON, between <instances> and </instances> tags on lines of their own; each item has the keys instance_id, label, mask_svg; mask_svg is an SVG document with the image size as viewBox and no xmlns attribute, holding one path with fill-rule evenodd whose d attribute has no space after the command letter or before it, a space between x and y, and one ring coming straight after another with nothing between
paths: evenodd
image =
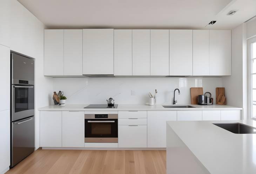
<instances>
[{"instance_id":1,"label":"glossy white backsplash between upper cabinets and back counter","mask_svg":"<svg viewBox=\"0 0 256 174\"><path fill-rule=\"evenodd\" d=\"M190 88L203 87L215 103L215 88L222 87L221 77L54 77L53 90L64 91L66 104L107 104L112 97L116 104L145 104L148 93L157 89L157 104L172 104L175 88L177 104L190 104ZM134 90L135 95L131 95ZM53 101L52 101L53 104Z\"/></svg>"}]
</instances>

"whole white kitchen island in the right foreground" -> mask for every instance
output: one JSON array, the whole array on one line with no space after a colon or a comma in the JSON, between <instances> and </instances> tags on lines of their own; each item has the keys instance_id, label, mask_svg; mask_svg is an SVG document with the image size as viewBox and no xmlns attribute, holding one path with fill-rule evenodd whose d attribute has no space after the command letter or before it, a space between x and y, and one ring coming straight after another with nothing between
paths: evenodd
<instances>
[{"instance_id":1,"label":"whole white kitchen island in the right foreground","mask_svg":"<svg viewBox=\"0 0 256 174\"><path fill-rule=\"evenodd\" d=\"M168 121L167 174L255 174L256 134L235 134L212 123L256 121Z\"/></svg>"}]
</instances>

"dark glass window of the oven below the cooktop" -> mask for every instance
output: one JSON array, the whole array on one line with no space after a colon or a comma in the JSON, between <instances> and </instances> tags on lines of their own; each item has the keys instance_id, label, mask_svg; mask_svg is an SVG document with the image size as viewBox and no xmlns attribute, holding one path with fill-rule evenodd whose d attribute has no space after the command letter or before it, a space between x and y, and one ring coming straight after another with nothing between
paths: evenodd
<instances>
[{"instance_id":1,"label":"dark glass window of the oven below the cooktop","mask_svg":"<svg viewBox=\"0 0 256 174\"><path fill-rule=\"evenodd\" d=\"M92 135L111 135L111 124L92 123Z\"/></svg>"}]
</instances>

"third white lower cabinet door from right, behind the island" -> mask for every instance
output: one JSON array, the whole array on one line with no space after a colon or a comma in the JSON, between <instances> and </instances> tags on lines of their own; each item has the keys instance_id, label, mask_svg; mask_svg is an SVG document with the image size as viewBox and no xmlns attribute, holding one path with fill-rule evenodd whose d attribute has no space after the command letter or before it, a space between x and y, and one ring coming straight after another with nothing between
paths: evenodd
<instances>
[{"instance_id":1,"label":"third white lower cabinet door from right, behind the island","mask_svg":"<svg viewBox=\"0 0 256 174\"><path fill-rule=\"evenodd\" d=\"M202 111L177 111L177 121L202 121Z\"/></svg>"}]
</instances>

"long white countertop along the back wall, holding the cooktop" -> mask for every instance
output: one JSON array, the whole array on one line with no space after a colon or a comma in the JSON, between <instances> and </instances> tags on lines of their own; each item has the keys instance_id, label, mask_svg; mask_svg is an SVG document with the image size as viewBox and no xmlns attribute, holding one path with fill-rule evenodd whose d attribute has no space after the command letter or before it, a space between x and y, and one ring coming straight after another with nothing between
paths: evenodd
<instances>
[{"instance_id":1,"label":"long white countertop along the back wall, holding the cooktop","mask_svg":"<svg viewBox=\"0 0 256 174\"><path fill-rule=\"evenodd\" d=\"M39 108L39 111L158 111L158 110L242 110L227 105L190 105L195 108L164 108L162 105L143 105L143 104L119 104L117 108L84 108L89 104L66 104L66 106L50 105Z\"/></svg>"}]
</instances>

